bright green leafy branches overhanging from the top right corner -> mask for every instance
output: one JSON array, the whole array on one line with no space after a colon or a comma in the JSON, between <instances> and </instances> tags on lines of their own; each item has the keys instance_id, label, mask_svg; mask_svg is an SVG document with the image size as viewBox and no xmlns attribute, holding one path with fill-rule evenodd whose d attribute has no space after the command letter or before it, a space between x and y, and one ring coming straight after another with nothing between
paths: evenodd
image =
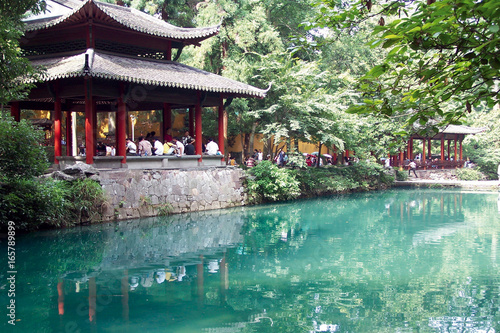
<instances>
[{"instance_id":1,"label":"bright green leafy branches overhanging from the top right corner","mask_svg":"<svg viewBox=\"0 0 500 333\"><path fill-rule=\"evenodd\" d=\"M364 99L350 111L448 124L473 106L498 102L498 1L320 0L317 6L316 24L337 31L377 20L370 45L388 50L384 62L358 80Z\"/></svg>"}]
</instances>

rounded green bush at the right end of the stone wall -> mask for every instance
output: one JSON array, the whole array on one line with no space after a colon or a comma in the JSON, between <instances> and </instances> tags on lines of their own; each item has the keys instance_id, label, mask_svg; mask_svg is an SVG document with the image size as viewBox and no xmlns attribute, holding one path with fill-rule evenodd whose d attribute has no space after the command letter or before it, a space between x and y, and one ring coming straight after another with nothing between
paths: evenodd
<instances>
[{"instance_id":1,"label":"rounded green bush at the right end of the stone wall","mask_svg":"<svg viewBox=\"0 0 500 333\"><path fill-rule=\"evenodd\" d=\"M263 161L248 172L247 190L252 203L290 200L300 195L299 182L291 170Z\"/></svg>"}]
</instances>

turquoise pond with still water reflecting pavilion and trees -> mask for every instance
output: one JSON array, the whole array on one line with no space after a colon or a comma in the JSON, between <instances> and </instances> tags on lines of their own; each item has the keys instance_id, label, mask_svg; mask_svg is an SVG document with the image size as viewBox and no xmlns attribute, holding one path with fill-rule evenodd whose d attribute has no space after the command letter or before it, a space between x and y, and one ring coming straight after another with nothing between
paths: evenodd
<instances>
[{"instance_id":1,"label":"turquoise pond with still water reflecting pavilion and trees","mask_svg":"<svg viewBox=\"0 0 500 333\"><path fill-rule=\"evenodd\" d=\"M17 237L16 269L1 332L500 332L500 197L388 190L43 231Z\"/></svg>"}]
</instances>

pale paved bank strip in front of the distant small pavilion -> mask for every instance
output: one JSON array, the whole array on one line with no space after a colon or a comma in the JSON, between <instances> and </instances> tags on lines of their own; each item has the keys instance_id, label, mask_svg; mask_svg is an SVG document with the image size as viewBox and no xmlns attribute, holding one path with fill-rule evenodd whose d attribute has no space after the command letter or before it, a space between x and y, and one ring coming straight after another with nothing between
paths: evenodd
<instances>
[{"instance_id":1,"label":"pale paved bank strip in front of the distant small pavilion","mask_svg":"<svg viewBox=\"0 0 500 333\"><path fill-rule=\"evenodd\" d=\"M422 187L459 187L473 190L500 191L498 180L431 180L410 177L406 181L396 181L395 186L422 186Z\"/></svg>"}]
</instances>

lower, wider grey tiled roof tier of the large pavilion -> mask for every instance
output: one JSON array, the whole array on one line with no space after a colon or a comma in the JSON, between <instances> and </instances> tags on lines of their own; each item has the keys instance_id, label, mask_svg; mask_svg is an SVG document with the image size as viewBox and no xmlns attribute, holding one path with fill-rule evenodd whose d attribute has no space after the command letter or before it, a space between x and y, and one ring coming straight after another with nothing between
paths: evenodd
<instances>
[{"instance_id":1,"label":"lower, wider grey tiled roof tier of the large pavilion","mask_svg":"<svg viewBox=\"0 0 500 333\"><path fill-rule=\"evenodd\" d=\"M84 77L85 56L88 55L87 75L139 84L225 93L229 96L264 98L267 90L223 76L189 67L173 61L125 57L88 49L85 53L34 59L34 66L46 69L43 81Z\"/></svg>"}]
</instances>

